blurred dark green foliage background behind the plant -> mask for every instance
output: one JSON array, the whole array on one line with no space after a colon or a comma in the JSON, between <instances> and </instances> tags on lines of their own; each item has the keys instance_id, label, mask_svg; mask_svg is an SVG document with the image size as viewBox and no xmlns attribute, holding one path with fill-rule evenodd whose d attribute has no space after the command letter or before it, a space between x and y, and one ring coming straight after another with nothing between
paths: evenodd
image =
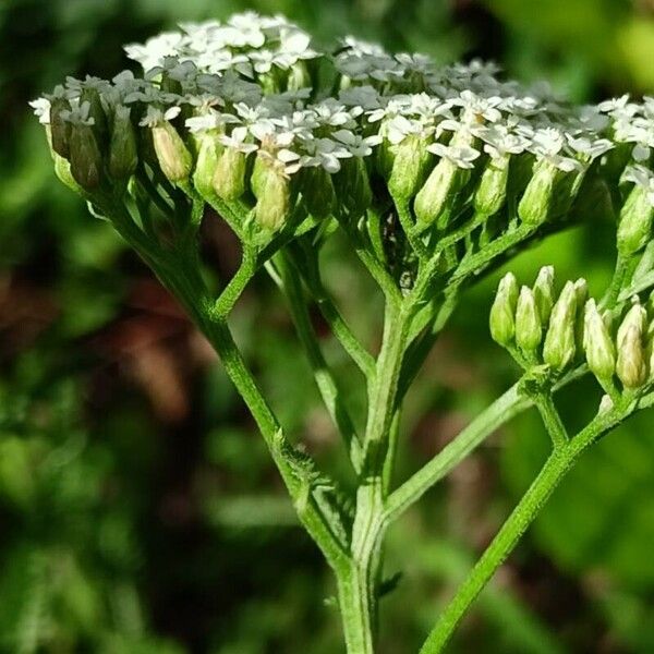
<instances>
[{"instance_id":1,"label":"blurred dark green foliage background behind the plant","mask_svg":"<svg viewBox=\"0 0 654 654\"><path fill-rule=\"evenodd\" d=\"M438 61L498 61L578 101L654 92L652 0L2 0L0 2L0 652L341 651L334 586L219 363L148 270L57 181L26 106L66 74L112 76L121 45L177 21L281 12ZM238 264L217 220L207 259ZM610 225L522 255L601 290ZM363 281L330 277L374 348ZM487 336L497 276L471 291L404 416L399 474L434 455L517 371ZM264 278L239 340L292 434L337 465L337 443L290 322ZM342 377L346 362L325 336ZM352 388L356 396L356 388ZM571 425L598 401L561 396ZM579 464L460 629L452 652L654 652L654 425L641 415ZM547 439L531 413L389 534L401 572L380 652L415 652L438 608L529 484Z\"/></svg>"}]
</instances>

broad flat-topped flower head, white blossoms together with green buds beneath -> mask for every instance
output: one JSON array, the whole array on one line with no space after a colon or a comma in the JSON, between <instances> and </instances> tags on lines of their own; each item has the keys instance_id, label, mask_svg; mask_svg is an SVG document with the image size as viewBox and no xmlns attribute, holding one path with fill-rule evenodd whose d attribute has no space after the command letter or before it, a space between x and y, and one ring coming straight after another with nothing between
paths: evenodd
<instances>
[{"instance_id":1,"label":"broad flat-topped flower head, white blossoms together with green buds beneath","mask_svg":"<svg viewBox=\"0 0 654 654\"><path fill-rule=\"evenodd\" d=\"M257 217L275 230L298 198L313 214L362 213L374 185L443 229L468 207L533 223L566 214L592 170L625 196L637 189L639 210L654 206L653 98L574 107L489 63L437 66L351 37L319 51L254 13L125 50L143 75L69 77L33 102L70 162L60 174L86 193L144 165L208 202L265 202ZM349 183L337 201L338 173Z\"/></svg>"}]
</instances>

